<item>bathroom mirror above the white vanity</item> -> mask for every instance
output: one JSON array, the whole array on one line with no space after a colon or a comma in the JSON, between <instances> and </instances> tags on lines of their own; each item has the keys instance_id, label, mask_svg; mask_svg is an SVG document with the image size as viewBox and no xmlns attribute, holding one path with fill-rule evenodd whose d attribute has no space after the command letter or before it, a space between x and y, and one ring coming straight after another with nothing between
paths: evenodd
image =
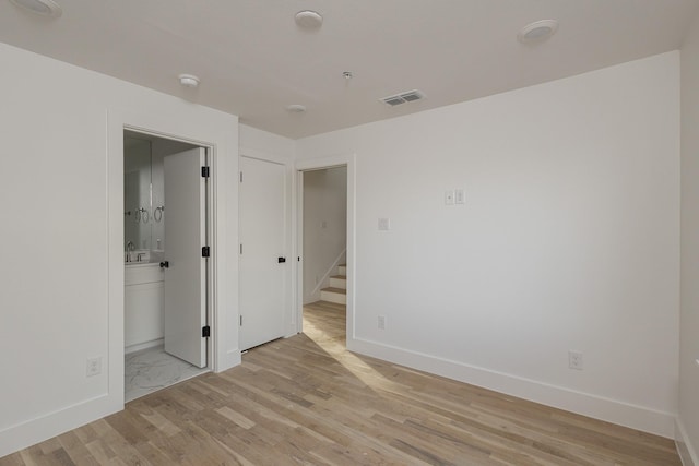
<instances>
[{"instance_id":1,"label":"bathroom mirror above the white vanity","mask_svg":"<svg viewBox=\"0 0 699 466\"><path fill-rule=\"evenodd\" d=\"M151 141L123 136L123 249L153 248Z\"/></svg>"}]
</instances>

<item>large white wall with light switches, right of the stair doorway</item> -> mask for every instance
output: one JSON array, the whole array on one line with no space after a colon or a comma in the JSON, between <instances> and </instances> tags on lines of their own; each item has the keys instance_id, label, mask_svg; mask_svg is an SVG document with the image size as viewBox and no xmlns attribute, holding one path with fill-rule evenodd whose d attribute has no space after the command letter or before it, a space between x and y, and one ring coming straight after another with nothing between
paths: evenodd
<instances>
[{"instance_id":1,"label":"large white wall with light switches, right of the stair doorway","mask_svg":"<svg viewBox=\"0 0 699 466\"><path fill-rule=\"evenodd\" d=\"M299 140L299 159L356 154L348 347L672 437L678 64L670 52ZM455 188L465 204L446 206Z\"/></svg>"}]
</instances>

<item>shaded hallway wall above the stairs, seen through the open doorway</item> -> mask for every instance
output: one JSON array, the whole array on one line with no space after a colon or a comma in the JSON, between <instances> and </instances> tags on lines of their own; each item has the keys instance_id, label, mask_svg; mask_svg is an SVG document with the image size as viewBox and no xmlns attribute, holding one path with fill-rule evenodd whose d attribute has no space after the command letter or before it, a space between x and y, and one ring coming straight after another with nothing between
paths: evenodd
<instances>
[{"instance_id":1,"label":"shaded hallway wall above the stairs, seen through the open doorway","mask_svg":"<svg viewBox=\"0 0 699 466\"><path fill-rule=\"evenodd\" d=\"M304 302L320 299L347 247L347 168L304 174Z\"/></svg>"}]
</instances>

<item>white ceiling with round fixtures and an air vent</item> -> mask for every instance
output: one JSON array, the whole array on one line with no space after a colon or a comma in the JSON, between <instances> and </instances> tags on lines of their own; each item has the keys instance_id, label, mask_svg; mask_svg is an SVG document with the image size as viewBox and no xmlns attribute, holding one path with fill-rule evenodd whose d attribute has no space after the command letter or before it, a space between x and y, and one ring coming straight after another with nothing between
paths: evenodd
<instances>
[{"instance_id":1,"label":"white ceiling with round fixtures and an air vent","mask_svg":"<svg viewBox=\"0 0 699 466\"><path fill-rule=\"evenodd\" d=\"M0 0L0 41L301 138L679 48L699 0ZM317 32L294 15L316 10ZM528 23L560 22L537 46ZM3 70L8 72L9 70ZM17 71L17 70L12 70ZM352 71L346 81L342 73ZM197 89L177 76L196 74ZM420 89L422 101L378 99ZM305 113L286 107L300 104Z\"/></svg>"}]
</instances>

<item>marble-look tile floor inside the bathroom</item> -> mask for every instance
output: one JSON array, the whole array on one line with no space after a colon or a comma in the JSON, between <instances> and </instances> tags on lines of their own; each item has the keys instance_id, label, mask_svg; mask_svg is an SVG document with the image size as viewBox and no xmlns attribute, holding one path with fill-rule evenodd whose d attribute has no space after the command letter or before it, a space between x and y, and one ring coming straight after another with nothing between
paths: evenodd
<instances>
[{"instance_id":1,"label":"marble-look tile floor inside the bathroom","mask_svg":"<svg viewBox=\"0 0 699 466\"><path fill-rule=\"evenodd\" d=\"M126 356L125 360L125 402L129 403L149 393L209 372L175 356L170 356L162 346L142 349Z\"/></svg>"}]
</instances>

